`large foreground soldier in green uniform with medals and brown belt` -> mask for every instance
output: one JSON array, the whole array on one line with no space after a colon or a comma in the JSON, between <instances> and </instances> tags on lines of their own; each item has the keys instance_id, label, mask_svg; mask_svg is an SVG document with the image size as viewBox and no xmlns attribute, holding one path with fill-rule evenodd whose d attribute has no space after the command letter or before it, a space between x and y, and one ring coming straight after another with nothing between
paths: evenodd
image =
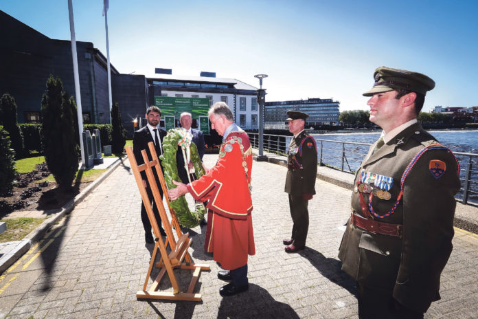
<instances>
[{"instance_id":1,"label":"large foreground soldier in green uniform with medals and brown belt","mask_svg":"<svg viewBox=\"0 0 478 319\"><path fill-rule=\"evenodd\" d=\"M423 318L453 248L459 164L417 121L431 78L378 67L374 80L363 95L383 132L357 170L339 259L360 318Z\"/></svg>"}]
</instances>

